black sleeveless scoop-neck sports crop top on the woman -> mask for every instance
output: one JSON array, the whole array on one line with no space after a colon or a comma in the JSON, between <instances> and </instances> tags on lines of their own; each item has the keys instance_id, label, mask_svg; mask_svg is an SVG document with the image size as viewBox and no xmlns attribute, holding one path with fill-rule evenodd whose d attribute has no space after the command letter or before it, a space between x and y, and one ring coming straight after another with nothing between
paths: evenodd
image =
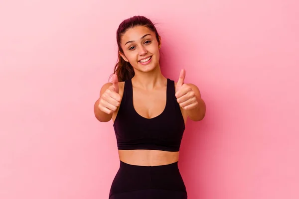
<instances>
[{"instance_id":1,"label":"black sleeveless scoop-neck sports crop top on the woman","mask_svg":"<svg viewBox=\"0 0 299 199\"><path fill-rule=\"evenodd\" d=\"M146 118L135 110L132 79L126 80L123 98L113 123L118 149L179 151L185 123L174 94L174 81L167 78L163 112L156 117Z\"/></svg>"}]
</instances>

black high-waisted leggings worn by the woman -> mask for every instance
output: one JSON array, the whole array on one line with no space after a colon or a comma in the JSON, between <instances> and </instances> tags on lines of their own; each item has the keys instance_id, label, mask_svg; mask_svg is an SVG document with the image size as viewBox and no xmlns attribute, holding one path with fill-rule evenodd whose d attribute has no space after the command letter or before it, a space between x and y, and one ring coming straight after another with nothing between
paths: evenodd
<instances>
[{"instance_id":1,"label":"black high-waisted leggings worn by the woman","mask_svg":"<svg viewBox=\"0 0 299 199\"><path fill-rule=\"evenodd\" d=\"M120 161L109 199L187 199L177 163L137 166Z\"/></svg>"}]
</instances>

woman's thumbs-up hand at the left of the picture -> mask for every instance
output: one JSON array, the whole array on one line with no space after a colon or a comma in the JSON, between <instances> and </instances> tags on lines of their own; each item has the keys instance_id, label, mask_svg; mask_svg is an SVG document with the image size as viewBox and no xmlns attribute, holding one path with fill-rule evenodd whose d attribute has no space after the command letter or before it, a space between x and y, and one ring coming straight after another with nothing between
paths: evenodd
<instances>
[{"instance_id":1,"label":"woman's thumbs-up hand at the left of the picture","mask_svg":"<svg viewBox=\"0 0 299 199\"><path fill-rule=\"evenodd\" d=\"M99 99L99 109L107 114L111 114L121 104L121 96L119 95L118 78L116 74L112 76L112 85L106 89Z\"/></svg>"}]
</instances>

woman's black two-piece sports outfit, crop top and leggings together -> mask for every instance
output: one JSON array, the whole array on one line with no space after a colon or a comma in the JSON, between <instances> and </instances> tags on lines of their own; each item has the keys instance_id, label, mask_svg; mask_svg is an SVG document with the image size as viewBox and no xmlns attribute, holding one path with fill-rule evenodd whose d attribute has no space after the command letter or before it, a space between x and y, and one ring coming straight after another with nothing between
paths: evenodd
<instances>
[{"instance_id":1,"label":"woman's black two-piece sports outfit, crop top and leggings together","mask_svg":"<svg viewBox=\"0 0 299 199\"><path fill-rule=\"evenodd\" d=\"M167 79L165 108L158 116L148 119L136 112L132 79L126 80L113 124L118 149L179 151L185 124L174 94L174 81ZM109 199L187 199L177 163L138 166L120 161Z\"/></svg>"}]
</instances>

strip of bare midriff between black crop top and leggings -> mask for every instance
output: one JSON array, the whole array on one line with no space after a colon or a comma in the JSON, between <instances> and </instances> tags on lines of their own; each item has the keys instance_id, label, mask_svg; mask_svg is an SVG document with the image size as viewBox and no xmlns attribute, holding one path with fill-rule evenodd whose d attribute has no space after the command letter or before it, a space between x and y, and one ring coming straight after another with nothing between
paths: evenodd
<instances>
[{"instance_id":1,"label":"strip of bare midriff between black crop top and leggings","mask_svg":"<svg viewBox=\"0 0 299 199\"><path fill-rule=\"evenodd\" d=\"M179 152L160 150L119 150L120 161L130 165L158 166L178 161Z\"/></svg>"}]
</instances>

